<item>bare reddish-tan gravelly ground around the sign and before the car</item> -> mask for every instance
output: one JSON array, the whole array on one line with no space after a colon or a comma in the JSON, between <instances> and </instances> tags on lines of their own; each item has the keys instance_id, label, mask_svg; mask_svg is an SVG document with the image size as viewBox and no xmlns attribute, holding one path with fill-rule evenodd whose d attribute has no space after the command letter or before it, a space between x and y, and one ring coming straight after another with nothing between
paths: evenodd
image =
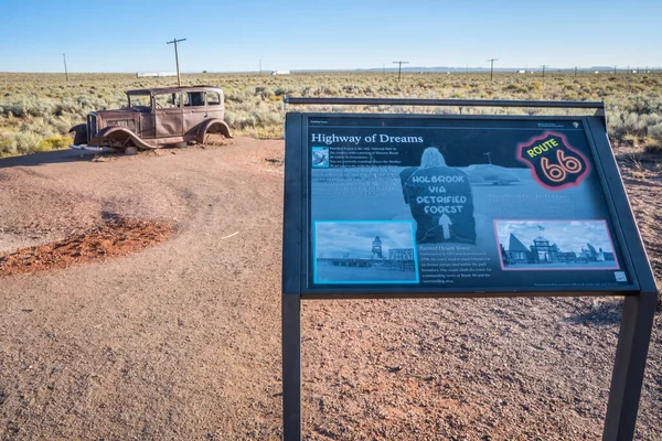
<instances>
[{"instance_id":1,"label":"bare reddish-tan gravelly ground around the sign and before the car","mask_svg":"<svg viewBox=\"0 0 662 441\"><path fill-rule=\"evenodd\" d=\"M0 439L281 437L282 142L0 161L0 252L108 218L170 239L0 279ZM659 172L628 176L658 277ZM308 301L314 440L600 439L616 299ZM662 315L638 438L662 439Z\"/></svg>"}]
</instances>

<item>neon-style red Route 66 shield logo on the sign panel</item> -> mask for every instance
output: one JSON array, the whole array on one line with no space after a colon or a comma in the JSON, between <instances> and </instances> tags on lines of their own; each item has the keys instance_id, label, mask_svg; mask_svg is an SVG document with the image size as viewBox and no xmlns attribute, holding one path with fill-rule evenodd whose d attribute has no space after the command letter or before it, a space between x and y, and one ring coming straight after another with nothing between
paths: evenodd
<instances>
[{"instance_id":1,"label":"neon-style red Route 66 shield logo on the sign panel","mask_svg":"<svg viewBox=\"0 0 662 441\"><path fill-rule=\"evenodd\" d=\"M589 162L563 135L545 132L517 146L517 159L531 168L533 178L551 190L579 185L589 173Z\"/></svg>"}]
</instances>

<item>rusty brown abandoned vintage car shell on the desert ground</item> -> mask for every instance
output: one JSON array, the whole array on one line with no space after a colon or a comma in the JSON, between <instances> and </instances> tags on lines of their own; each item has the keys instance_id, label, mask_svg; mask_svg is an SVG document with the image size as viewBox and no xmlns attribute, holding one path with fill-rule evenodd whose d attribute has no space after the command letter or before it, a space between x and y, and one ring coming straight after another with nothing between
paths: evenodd
<instances>
[{"instance_id":1,"label":"rusty brown abandoned vintage car shell on the desert ground","mask_svg":"<svg viewBox=\"0 0 662 441\"><path fill-rule=\"evenodd\" d=\"M97 110L87 122L70 129L73 149L125 151L204 143L207 135L232 138L223 120L223 90L213 86L182 86L128 90L128 107Z\"/></svg>"}]
</instances>

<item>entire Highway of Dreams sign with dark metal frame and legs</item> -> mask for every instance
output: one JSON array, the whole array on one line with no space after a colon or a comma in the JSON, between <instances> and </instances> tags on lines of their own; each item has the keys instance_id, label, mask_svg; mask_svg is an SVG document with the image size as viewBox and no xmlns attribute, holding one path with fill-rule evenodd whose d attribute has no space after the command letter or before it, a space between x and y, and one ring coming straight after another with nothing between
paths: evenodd
<instances>
[{"instance_id":1,"label":"entire Highway of Dreams sign with dark metal frame and legs","mask_svg":"<svg viewBox=\"0 0 662 441\"><path fill-rule=\"evenodd\" d=\"M633 438L656 288L602 103L285 103L596 110L534 117L287 114L285 440L301 439L302 299L534 295L624 295L604 440ZM495 208L490 202L499 197L519 202Z\"/></svg>"}]
</instances>

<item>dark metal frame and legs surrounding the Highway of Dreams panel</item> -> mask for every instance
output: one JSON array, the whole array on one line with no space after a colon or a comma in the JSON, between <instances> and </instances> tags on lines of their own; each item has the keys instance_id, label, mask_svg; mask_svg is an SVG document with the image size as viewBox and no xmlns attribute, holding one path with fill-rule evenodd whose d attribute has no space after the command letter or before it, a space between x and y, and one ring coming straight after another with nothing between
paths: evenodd
<instances>
[{"instance_id":1,"label":"dark metal frame and legs surrounding the Highway of Dreams panel","mask_svg":"<svg viewBox=\"0 0 662 441\"><path fill-rule=\"evenodd\" d=\"M285 104L337 105L431 105L592 108L596 115L585 116L462 116L414 114L331 114L288 112L286 116L285 205L282 241L282 387L284 435L286 440L301 439L301 331L302 299L384 299L384 298L494 298L494 297L578 297L624 295L623 314L612 373L604 440L632 439L639 407L643 370L653 324L656 286L634 220L630 203L607 137L602 103L588 101L490 101L490 100L420 100L378 98L286 98ZM346 118L430 118L481 120L580 120L595 163L595 172L606 196L624 266L632 283L606 291L567 288L562 290L521 287L477 291L473 289L438 287L309 287L310 249L308 248L309 173L307 118L340 116Z\"/></svg>"}]
</instances>

